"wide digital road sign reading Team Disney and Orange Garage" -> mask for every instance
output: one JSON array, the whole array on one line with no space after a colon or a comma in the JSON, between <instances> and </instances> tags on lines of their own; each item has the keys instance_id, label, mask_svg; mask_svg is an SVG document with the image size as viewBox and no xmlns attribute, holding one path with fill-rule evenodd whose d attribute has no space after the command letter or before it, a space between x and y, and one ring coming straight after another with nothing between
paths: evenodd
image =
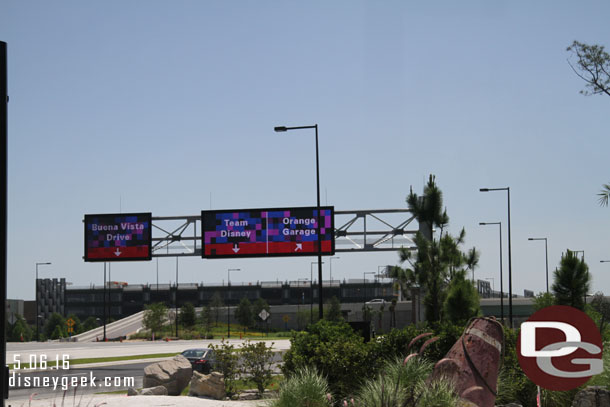
<instances>
[{"instance_id":1,"label":"wide digital road sign reading Team Disney and Orange Garage","mask_svg":"<svg viewBox=\"0 0 610 407\"><path fill-rule=\"evenodd\" d=\"M335 254L334 207L236 209L201 212L202 257Z\"/></svg>"}]
</instances>

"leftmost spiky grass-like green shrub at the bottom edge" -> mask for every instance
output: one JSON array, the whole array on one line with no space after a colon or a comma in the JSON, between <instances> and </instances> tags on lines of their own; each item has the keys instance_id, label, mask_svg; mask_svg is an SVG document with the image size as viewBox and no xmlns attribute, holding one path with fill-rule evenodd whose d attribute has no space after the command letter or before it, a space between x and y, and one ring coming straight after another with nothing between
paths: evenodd
<instances>
[{"instance_id":1,"label":"leftmost spiky grass-like green shrub at the bottom edge","mask_svg":"<svg viewBox=\"0 0 610 407\"><path fill-rule=\"evenodd\" d=\"M294 370L269 407L330 407L328 382L312 367Z\"/></svg>"}]
</instances>

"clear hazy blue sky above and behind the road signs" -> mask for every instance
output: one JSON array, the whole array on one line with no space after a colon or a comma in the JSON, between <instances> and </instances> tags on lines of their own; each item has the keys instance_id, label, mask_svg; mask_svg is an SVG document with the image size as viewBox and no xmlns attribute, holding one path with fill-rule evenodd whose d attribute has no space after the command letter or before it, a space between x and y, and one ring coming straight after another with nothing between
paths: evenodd
<instances>
[{"instance_id":1,"label":"clear hazy blue sky above and behind the road signs","mask_svg":"<svg viewBox=\"0 0 610 407\"><path fill-rule=\"evenodd\" d=\"M574 41L610 46L606 1L20 1L0 4L8 44L8 298L41 278L102 284L85 263L85 214L198 215L322 203L406 208L429 174L449 231L481 252L499 289L502 222L513 292L545 290L566 249L584 250L592 291L610 293L610 97L583 96ZM399 264L340 253L333 278ZM309 258L179 260L179 280L308 278ZM325 263L328 263L325 261ZM328 278L329 264L324 264ZM162 283L174 259L159 260ZM156 261L112 265L155 283ZM552 280L552 276L551 276ZM490 280L491 281L491 280ZM552 282L552 281L551 281Z\"/></svg>"}]
</instances>

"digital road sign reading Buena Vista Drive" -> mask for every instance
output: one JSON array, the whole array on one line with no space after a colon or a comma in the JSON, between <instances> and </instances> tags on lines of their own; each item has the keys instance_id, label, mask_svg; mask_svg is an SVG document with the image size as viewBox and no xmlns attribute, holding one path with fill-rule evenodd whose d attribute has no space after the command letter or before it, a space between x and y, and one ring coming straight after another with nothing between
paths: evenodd
<instances>
[{"instance_id":1,"label":"digital road sign reading Buena Vista Drive","mask_svg":"<svg viewBox=\"0 0 610 407\"><path fill-rule=\"evenodd\" d=\"M150 260L152 214L85 215L85 261Z\"/></svg>"}]
</instances>

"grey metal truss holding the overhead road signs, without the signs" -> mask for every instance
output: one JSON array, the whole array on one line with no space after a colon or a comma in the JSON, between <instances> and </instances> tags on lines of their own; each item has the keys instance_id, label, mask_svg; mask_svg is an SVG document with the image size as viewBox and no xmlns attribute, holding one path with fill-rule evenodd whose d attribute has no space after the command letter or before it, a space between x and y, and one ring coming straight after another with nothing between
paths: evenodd
<instances>
[{"instance_id":1,"label":"grey metal truss holding the overhead road signs, without the signs","mask_svg":"<svg viewBox=\"0 0 610 407\"><path fill-rule=\"evenodd\" d=\"M335 251L415 250L418 230L406 229L414 220L408 209L335 211L335 225L342 225L335 227ZM201 215L153 216L152 226L153 257L201 257Z\"/></svg>"}]
</instances>

